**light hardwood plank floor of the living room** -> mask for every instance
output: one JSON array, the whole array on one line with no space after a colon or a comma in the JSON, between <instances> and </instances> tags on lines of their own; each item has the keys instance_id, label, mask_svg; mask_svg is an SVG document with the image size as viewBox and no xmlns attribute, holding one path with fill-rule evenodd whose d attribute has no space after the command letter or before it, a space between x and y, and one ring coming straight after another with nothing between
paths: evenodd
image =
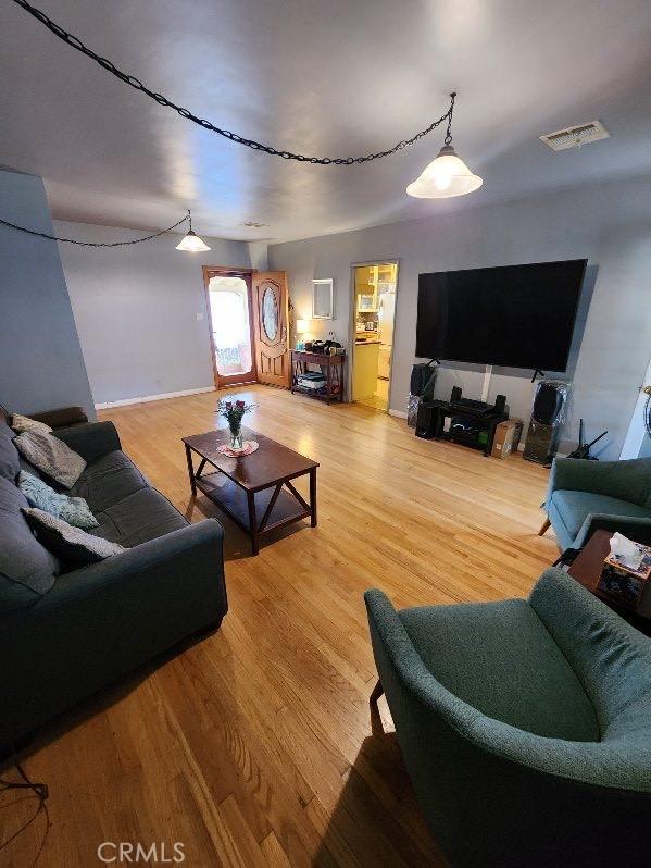
<instances>
[{"instance_id":1,"label":"light hardwood plank floor of the living room","mask_svg":"<svg viewBox=\"0 0 651 868\"><path fill-rule=\"evenodd\" d=\"M228 520L222 629L76 714L25 757L50 788L39 868L100 865L103 841L174 842L184 865L442 865L414 802L376 672L362 592L397 606L524 596L556 557L540 538L547 471L416 439L400 419L265 387L253 429L321 462L318 528L251 557ZM215 394L107 410L123 448L193 521L180 437ZM273 542L268 542L268 540ZM377 730L377 726L374 727ZM15 772L4 777L15 778ZM0 840L34 803L0 802ZM29 866L43 817L0 854ZM109 854L111 855L111 854ZM160 858L160 857L159 857Z\"/></svg>"}]
</instances>

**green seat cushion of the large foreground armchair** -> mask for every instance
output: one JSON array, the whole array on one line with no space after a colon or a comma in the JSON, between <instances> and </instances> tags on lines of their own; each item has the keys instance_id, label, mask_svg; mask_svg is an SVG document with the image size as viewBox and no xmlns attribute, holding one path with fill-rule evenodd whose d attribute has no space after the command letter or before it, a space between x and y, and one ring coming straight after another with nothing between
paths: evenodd
<instances>
[{"instance_id":1,"label":"green seat cushion of the large foreground armchair","mask_svg":"<svg viewBox=\"0 0 651 868\"><path fill-rule=\"evenodd\" d=\"M427 669L454 696L537 735L599 741L588 696L527 602L404 609L399 617Z\"/></svg>"}]
</instances>

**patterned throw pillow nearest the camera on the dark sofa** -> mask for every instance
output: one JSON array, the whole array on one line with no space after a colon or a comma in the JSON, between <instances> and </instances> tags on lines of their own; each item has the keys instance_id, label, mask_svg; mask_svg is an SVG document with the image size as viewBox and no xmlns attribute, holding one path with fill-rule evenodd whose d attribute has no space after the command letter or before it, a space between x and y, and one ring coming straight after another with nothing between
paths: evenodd
<instances>
[{"instance_id":1,"label":"patterned throw pillow nearest the camera on the dark sofa","mask_svg":"<svg viewBox=\"0 0 651 868\"><path fill-rule=\"evenodd\" d=\"M37 540L67 567L86 567L126 551L117 543L73 528L67 521L50 516L42 509L23 508L23 512Z\"/></svg>"}]
</instances>

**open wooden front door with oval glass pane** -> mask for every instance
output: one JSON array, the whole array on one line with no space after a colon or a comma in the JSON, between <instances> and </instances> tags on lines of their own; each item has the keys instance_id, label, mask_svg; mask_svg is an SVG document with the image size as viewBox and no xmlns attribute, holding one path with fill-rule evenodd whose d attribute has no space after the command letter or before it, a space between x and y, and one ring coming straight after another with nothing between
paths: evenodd
<instances>
[{"instance_id":1,"label":"open wooden front door with oval glass pane","mask_svg":"<svg viewBox=\"0 0 651 868\"><path fill-rule=\"evenodd\" d=\"M287 277L284 271L252 275L258 382L289 387Z\"/></svg>"}]
</instances>

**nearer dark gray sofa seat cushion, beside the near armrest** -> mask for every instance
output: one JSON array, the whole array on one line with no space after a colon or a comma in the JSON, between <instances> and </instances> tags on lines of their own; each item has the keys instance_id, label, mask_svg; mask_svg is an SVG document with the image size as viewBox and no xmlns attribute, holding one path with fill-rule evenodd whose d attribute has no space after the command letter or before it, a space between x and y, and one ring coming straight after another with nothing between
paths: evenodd
<instances>
[{"instance_id":1,"label":"nearer dark gray sofa seat cushion, beside the near armrest","mask_svg":"<svg viewBox=\"0 0 651 868\"><path fill-rule=\"evenodd\" d=\"M124 546L136 546L158 536L185 528L188 521L155 488L140 488L96 512L100 522L93 534Z\"/></svg>"}]
</instances>

